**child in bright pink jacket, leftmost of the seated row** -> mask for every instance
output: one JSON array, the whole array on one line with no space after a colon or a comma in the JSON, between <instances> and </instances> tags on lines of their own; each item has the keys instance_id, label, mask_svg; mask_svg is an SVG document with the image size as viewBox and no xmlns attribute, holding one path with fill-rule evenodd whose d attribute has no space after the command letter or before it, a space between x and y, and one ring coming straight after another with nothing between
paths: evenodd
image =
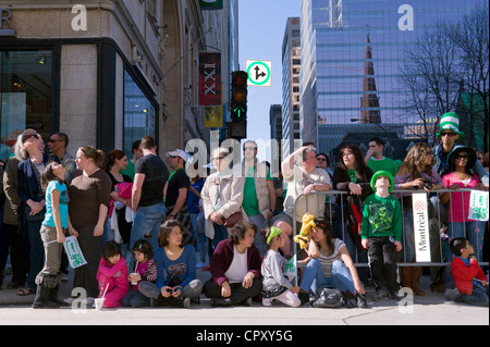
<instances>
[{"instance_id":1,"label":"child in bright pink jacket, leftmost of the seated row","mask_svg":"<svg viewBox=\"0 0 490 347\"><path fill-rule=\"evenodd\" d=\"M99 270L97 271L99 298L106 292L103 307L120 307L121 300L130 289L127 265L125 260L121 258L121 250L115 241L105 244L102 255L103 257L100 259Z\"/></svg>"}]
</instances>

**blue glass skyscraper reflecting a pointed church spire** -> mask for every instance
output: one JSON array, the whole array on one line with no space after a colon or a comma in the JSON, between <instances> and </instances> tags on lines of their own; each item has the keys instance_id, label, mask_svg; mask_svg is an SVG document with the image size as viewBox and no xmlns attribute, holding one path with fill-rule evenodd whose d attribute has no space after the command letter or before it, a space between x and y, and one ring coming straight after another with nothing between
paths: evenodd
<instances>
[{"instance_id":1,"label":"blue glass skyscraper reflecting a pointed church spire","mask_svg":"<svg viewBox=\"0 0 490 347\"><path fill-rule=\"evenodd\" d=\"M329 152L346 133L362 132L363 125L371 132L379 127L362 123L381 121L385 127L417 121L414 110L403 102L409 94L400 83L404 52L425 27L460 21L478 3L302 0L303 140Z\"/></svg>"}]
</instances>

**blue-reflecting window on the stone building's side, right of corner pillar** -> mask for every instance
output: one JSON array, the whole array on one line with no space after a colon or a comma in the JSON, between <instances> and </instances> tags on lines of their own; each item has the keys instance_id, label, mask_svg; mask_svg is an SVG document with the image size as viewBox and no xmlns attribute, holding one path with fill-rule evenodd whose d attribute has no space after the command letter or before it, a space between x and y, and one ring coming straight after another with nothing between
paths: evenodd
<instances>
[{"instance_id":1,"label":"blue-reflecting window on the stone building's side, right of corner pillar","mask_svg":"<svg viewBox=\"0 0 490 347\"><path fill-rule=\"evenodd\" d=\"M133 141L149 135L157 138L156 108L132 76L124 72L124 152L131 154Z\"/></svg>"}]
</instances>

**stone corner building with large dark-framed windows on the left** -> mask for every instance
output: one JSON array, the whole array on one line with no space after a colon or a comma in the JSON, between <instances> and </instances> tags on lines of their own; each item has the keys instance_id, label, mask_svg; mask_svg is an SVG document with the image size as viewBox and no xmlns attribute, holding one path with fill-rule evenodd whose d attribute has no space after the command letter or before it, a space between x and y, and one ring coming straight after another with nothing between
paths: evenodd
<instances>
[{"instance_id":1,"label":"stone corner building with large dark-framed windows on the left","mask_svg":"<svg viewBox=\"0 0 490 347\"><path fill-rule=\"evenodd\" d=\"M197 101L198 53L235 49L228 45L229 8L203 11L198 0L1 0L0 9L8 17L0 27L1 159L26 127L45 140L66 133L71 153L91 145L130 154L145 135L157 139L161 156L191 138L209 140ZM233 59L222 59L223 74Z\"/></svg>"}]
</instances>

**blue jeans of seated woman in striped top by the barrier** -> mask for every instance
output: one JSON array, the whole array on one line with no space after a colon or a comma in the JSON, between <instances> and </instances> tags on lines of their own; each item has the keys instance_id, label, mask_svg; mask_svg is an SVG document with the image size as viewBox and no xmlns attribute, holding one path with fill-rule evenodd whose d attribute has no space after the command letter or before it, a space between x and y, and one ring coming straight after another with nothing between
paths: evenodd
<instances>
[{"instance_id":1,"label":"blue jeans of seated woman in striped top by the barrier","mask_svg":"<svg viewBox=\"0 0 490 347\"><path fill-rule=\"evenodd\" d=\"M352 280L351 271L341 261L332 262L332 276L327 277L321 269L320 260L311 259L306 265L303 275L301 288L309 292L316 292L318 288L335 287L342 292L351 292L354 294L354 281Z\"/></svg>"}]
</instances>

